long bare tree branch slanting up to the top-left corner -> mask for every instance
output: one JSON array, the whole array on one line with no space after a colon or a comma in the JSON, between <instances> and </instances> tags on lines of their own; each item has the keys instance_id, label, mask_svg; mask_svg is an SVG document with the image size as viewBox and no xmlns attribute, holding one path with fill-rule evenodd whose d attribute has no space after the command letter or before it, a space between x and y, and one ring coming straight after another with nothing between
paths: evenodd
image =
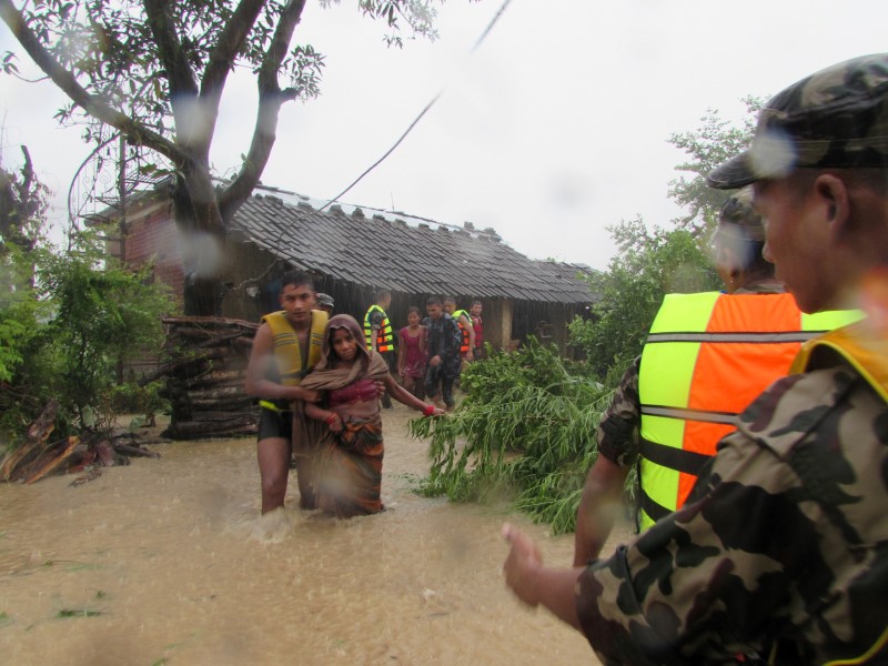
<instances>
[{"instance_id":1,"label":"long bare tree branch slanting up to the top-left corner","mask_svg":"<svg viewBox=\"0 0 888 666\"><path fill-rule=\"evenodd\" d=\"M9 26L12 34L16 36L16 39L24 48L28 56L31 57L31 60L43 70L74 104L80 105L93 118L123 132L132 143L155 150L174 164L180 164L184 160L185 155L174 143L113 109L102 99L87 92L74 75L43 48L43 44L40 43L37 36L28 27L21 12L16 9L11 0L0 0L0 18Z\"/></svg>"}]
</instances>

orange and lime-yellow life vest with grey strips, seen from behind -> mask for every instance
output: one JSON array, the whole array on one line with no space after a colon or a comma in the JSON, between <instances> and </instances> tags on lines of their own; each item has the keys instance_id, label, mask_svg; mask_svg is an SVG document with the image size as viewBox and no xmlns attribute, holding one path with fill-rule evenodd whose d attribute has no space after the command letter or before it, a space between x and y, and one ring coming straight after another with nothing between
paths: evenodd
<instances>
[{"instance_id":1,"label":"orange and lime-yellow life vest with grey strips, seen from behind","mask_svg":"<svg viewBox=\"0 0 888 666\"><path fill-rule=\"evenodd\" d=\"M801 343L859 320L801 313L791 294L669 294L642 354L640 524L682 506L718 441Z\"/></svg>"}]
</instances>

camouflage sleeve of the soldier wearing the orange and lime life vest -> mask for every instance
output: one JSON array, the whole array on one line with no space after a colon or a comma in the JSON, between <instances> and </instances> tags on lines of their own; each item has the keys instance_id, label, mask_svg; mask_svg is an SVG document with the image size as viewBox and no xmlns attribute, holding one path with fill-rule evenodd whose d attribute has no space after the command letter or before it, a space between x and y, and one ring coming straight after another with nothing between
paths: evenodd
<instances>
[{"instance_id":1,"label":"camouflage sleeve of the soldier wearing the orange and lime life vest","mask_svg":"<svg viewBox=\"0 0 888 666\"><path fill-rule=\"evenodd\" d=\"M612 463L628 470L638 458L638 444L635 431L642 420L642 405L638 398L638 356L626 369L614 392L607 411L598 422L598 453Z\"/></svg>"}]
</instances>

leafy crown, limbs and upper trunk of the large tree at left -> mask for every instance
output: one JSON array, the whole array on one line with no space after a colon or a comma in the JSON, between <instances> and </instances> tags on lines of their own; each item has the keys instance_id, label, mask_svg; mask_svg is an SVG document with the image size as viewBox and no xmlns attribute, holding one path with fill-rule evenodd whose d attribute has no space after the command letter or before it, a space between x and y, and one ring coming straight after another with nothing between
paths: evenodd
<instances>
[{"instance_id":1,"label":"leafy crown, limbs and upper trunk of the large tree at left","mask_svg":"<svg viewBox=\"0 0 888 666\"><path fill-rule=\"evenodd\" d=\"M324 0L329 6L335 0ZM173 175L180 226L202 232L203 258L185 258L198 280L199 312L215 310L213 278L225 223L250 195L275 141L281 107L320 93L324 56L293 39L305 0L44 0L17 8L0 0L0 18L23 50L71 100L57 117L85 121L88 141L114 128L131 145L160 158L157 170ZM360 10L385 23L385 41L434 39L431 0L361 0ZM16 58L0 59L7 73ZM236 175L216 189L210 148L220 102L232 72L255 77L259 102L246 154ZM149 167L151 168L151 167Z\"/></svg>"}]
</instances>

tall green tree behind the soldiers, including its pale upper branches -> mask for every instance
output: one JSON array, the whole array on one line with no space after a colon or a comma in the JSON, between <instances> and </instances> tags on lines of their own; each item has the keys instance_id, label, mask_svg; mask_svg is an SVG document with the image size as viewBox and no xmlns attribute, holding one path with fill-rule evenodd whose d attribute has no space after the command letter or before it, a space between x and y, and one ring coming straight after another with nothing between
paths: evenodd
<instances>
[{"instance_id":1,"label":"tall green tree behind the soldiers, including its pale upper branches","mask_svg":"<svg viewBox=\"0 0 888 666\"><path fill-rule=\"evenodd\" d=\"M709 240L727 194L707 186L705 176L751 142L763 101L753 97L743 101L747 114L739 125L709 110L696 130L669 137L669 143L688 155L676 165L683 175L669 183L669 196L685 209L684 215L670 228L649 228L640 219L608 226L617 253L606 271L587 278L598 294L592 317L575 319L569 329L571 342L586 353L596 376L608 385L640 353L665 294L722 287Z\"/></svg>"}]
</instances>

